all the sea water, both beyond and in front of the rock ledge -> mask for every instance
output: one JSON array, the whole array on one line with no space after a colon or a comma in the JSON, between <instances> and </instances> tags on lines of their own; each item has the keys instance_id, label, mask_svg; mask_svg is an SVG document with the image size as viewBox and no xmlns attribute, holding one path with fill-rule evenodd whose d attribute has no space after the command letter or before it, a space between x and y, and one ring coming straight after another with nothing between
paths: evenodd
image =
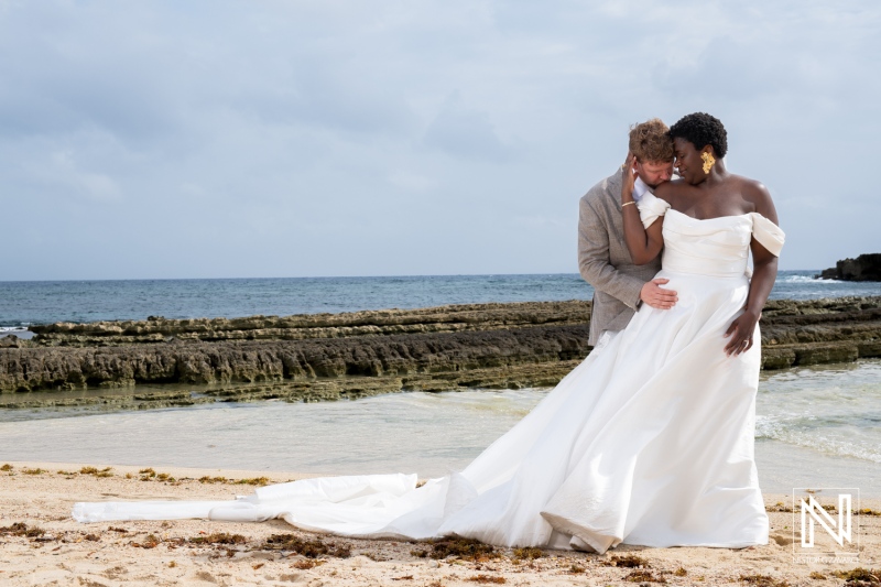
<instances>
[{"instance_id":1,"label":"all the sea water, both beyond and in front of the rock ledge","mask_svg":"<svg viewBox=\"0 0 881 587\"><path fill-rule=\"evenodd\" d=\"M881 295L881 283L819 281L816 273L780 272L771 296ZM591 295L577 274L0 282L0 330L150 315L290 315ZM547 391L412 392L142 412L0 410L0 463L435 476L465 466ZM8 400L14 403L15 395ZM859 487L864 497L881 497L879 406L881 360L763 372L755 427L762 489ZM359 442L338 442L352 437Z\"/></svg>"}]
</instances>

